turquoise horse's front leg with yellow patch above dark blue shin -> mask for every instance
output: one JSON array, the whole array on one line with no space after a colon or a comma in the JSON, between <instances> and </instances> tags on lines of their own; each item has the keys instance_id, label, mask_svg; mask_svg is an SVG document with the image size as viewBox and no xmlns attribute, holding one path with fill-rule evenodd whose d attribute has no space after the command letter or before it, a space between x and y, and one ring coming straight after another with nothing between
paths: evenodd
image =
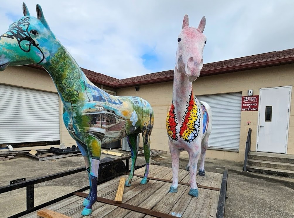
<instances>
[{"instance_id":1,"label":"turquoise horse's front leg with yellow patch above dark blue shin","mask_svg":"<svg viewBox=\"0 0 294 218\"><path fill-rule=\"evenodd\" d=\"M101 155L101 141L99 139L92 135L88 135L86 141L90 159L90 184L92 188L89 194L89 202L81 213L83 216L88 216L92 213L92 205L97 199L97 179Z\"/></svg>"}]
</instances>

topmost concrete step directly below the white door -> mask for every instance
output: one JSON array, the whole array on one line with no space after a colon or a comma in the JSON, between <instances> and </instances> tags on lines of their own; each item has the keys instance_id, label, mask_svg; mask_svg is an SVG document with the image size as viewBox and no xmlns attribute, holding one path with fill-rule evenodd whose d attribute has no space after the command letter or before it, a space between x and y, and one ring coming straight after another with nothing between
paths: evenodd
<instances>
[{"instance_id":1,"label":"topmost concrete step directly below the white door","mask_svg":"<svg viewBox=\"0 0 294 218\"><path fill-rule=\"evenodd\" d=\"M250 151L248 159L294 164L294 155Z\"/></svg>"}]
</instances>

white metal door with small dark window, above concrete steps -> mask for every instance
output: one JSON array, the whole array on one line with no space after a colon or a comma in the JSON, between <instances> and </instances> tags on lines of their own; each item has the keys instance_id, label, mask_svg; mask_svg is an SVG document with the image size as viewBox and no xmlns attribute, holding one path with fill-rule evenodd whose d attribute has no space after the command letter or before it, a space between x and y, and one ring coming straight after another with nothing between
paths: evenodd
<instances>
[{"instance_id":1,"label":"white metal door with small dark window, above concrete steps","mask_svg":"<svg viewBox=\"0 0 294 218\"><path fill-rule=\"evenodd\" d=\"M260 89L257 150L286 153L291 87Z\"/></svg>"}]
</instances>

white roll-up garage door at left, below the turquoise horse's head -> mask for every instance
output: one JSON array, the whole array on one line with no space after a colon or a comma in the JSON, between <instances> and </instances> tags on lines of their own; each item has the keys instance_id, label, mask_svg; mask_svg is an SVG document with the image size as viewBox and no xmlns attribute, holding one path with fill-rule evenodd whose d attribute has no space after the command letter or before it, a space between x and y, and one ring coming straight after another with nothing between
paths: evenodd
<instances>
[{"instance_id":1,"label":"white roll-up garage door at left, below the turquoise horse's head","mask_svg":"<svg viewBox=\"0 0 294 218\"><path fill-rule=\"evenodd\" d=\"M0 144L56 140L58 94L0 85Z\"/></svg>"}]
</instances>

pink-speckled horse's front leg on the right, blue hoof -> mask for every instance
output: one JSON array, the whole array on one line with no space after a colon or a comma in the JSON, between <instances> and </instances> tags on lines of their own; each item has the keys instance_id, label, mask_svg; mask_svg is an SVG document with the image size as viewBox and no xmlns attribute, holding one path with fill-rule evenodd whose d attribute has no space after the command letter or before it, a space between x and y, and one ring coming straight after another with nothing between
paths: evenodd
<instances>
[{"instance_id":1,"label":"pink-speckled horse's front leg on the right, blue hoof","mask_svg":"<svg viewBox=\"0 0 294 218\"><path fill-rule=\"evenodd\" d=\"M200 156L200 143L193 146L191 150L188 151L189 159L191 162L190 166L190 191L189 194L193 197L198 197L198 187L196 183L196 175L197 175L197 163Z\"/></svg>"}]
</instances>

